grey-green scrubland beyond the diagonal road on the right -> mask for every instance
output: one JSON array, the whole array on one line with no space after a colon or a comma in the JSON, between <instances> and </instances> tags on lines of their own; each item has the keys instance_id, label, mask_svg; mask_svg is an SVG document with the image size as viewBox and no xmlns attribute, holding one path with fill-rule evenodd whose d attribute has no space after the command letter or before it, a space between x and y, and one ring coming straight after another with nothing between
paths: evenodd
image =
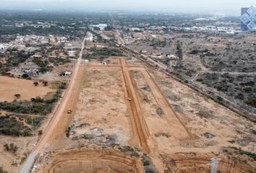
<instances>
[{"instance_id":1,"label":"grey-green scrubland beyond the diagonal road on the right","mask_svg":"<svg viewBox=\"0 0 256 173\"><path fill-rule=\"evenodd\" d=\"M208 94L214 93L236 102L236 107L244 108L256 115L256 36L212 36L193 33L173 33L172 37L137 40L128 46L137 51L147 50L149 56L161 55L155 61L170 66L166 53L176 55L177 43L182 43L182 61L179 67L170 68L175 76L195 86L208 87ZM162 44L164 40L165 44ZM168 50L168 51L167 51ZM200 74L200 75L198 75ZM203 82L201 83L201 81Z\"/></svg>"}]
</instances>

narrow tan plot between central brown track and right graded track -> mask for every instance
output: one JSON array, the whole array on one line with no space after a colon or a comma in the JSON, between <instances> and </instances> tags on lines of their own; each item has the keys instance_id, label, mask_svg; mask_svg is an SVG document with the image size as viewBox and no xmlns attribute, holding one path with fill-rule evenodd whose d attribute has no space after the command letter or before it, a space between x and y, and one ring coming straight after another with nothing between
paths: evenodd
<instances>
[{"instance_id":1,"label":"narrow tan plot between central brown track and right graded track","mask_svg":"<svg viewBox=\"0 0 256 173\"><path fill-rule=\"evenodd\" d=\"M175 112L168 105L168 102L165 102L166 100L158 91L157 86L151 83L152 79L145 68L132 70L131 74L135 81L137 94L140 96L140 104L150 137L157 141L155 146L158 146L158 149L168 149L165 147L166 143L175 143L184 138L190 138L188 130L176 118Z\"/></svg>"}]
</instances>

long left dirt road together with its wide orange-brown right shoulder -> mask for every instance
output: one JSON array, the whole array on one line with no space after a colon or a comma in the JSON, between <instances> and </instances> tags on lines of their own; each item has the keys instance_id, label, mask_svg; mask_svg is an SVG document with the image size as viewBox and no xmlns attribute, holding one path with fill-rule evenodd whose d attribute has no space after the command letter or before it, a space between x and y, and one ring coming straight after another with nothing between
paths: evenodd
<instances>
[{"instance_id":1,"label":"long left dirt road together with its wide orange-brown right shoulder","mask_svg":"<svg viewBox=\"0 0 256 173\"><path fill-rule=\"evenodd\" d=\"M35 156L43 152L43 149L50 145L52 140L56 140L57 138L61 138L63 136L63 130L67 128L67 125L70 120L70 116L67 116L67 110L69 109L70 102L74 102L79 95L80 92L80 81L81 81L81 74L83 71L83 66L80 66L82 61L82 52L85 48L85 38L82 40L80 56L77 59L77 63L74 66L72 79L69 82L69 87L67 89L64 98L61 100L59 107L57 108L56 112L54 112L54 116L52 117L51 123L49 123L48 127L46 128L43 136L40 138L40 141L37 143L35 148L31 154L27 157L25 164L23 165L20 173L27 173L30 172L31 167L33 167L33 163L35 161ZM82 69L81 69L82 68ZM78 94L77 94L78 92ZM75 103L71 103L75 105ZM70 107L72 108L72 107ZM65 117L66 116L66 117ZM61 123L61 125L59 125ZM58 133L59 132L59 133Z\"/></svg>"}]
</instances>

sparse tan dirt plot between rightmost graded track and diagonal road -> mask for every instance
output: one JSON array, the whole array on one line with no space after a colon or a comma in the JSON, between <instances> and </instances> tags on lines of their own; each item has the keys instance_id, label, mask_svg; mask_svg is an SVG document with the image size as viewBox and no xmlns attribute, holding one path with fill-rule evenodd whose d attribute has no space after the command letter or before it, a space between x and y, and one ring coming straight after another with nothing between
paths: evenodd
<instances>
[{"instance_id":1,"label":"sparse tan dirt plot between rightmost graded track and diagonal road","mask_svg":"<svg viewBox=\"0 0 256 173\"><path fill-rule=\"evenodd\" d=\"M213 102L184 84L169 78L159 71L150 71L158 86L174 106L184 125L194 138L168 143L170 154L195 152L197 154L226 153L226 148L241 148L255 153L256 125L235 112ZM229 152L227 152L228 154ZM232 155L237 152L230 152ZM255 161L247 158L247 164L255 167Z\"/></svg>"}]
</instances>

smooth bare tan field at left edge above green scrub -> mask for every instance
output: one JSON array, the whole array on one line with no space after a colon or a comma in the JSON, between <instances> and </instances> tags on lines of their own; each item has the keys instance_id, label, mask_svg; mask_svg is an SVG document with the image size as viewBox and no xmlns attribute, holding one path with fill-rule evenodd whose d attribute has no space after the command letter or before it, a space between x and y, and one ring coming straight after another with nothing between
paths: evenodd
<instances>
[{"instance_id":1,"label":"smooth bare tan field at left edge above green scrub","mask_svg":"<svg viewBox=\"0 0 256 173\"><path fill-rule=\"evenodd\" d=\"M12 102L17 99L14 94L20 94L20 100L30 100L34 97L44 97L54 89L39 84L33 85L32 80L16 79L7 76L0 76L0 102Z\"/></svg>"}]
</instances>

